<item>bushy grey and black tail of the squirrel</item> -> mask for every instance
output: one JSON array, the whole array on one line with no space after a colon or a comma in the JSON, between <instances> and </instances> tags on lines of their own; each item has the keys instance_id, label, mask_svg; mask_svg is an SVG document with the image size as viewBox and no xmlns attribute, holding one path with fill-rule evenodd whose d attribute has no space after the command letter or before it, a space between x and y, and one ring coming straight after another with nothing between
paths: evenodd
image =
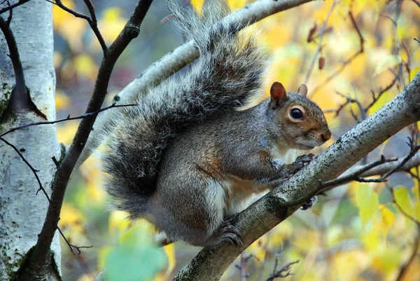
<instances>
[{"instance_id":1,"label":"bushy grey and black tail of the squirrel","mask_svg":"<svg viewBox=\"0 0 420 281\"><path fill-rule=\"evenodd\" d=\"M106 132L102 166L106 190L119 210L140 217L155 191L165 147L181 128L246 104L262 88L267 58L246 25L221 18L221 4L206 1L202 15L169 4L179 27L195 41L200 58L184 74L172 76L127 107Z\"/></svg>"}]
</instances>

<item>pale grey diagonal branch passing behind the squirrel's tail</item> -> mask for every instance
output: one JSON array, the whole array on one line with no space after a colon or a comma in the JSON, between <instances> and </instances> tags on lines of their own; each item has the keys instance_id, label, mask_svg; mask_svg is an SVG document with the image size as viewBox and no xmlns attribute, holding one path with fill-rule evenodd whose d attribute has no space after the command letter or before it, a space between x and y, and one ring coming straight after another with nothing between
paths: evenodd
<instances>
[{"instance_id":1,"label":"pale grey diagonal branch passing behind the squirrel's tail","mask_svg":"<svg viewBox=\"0 0 420 281\"><path fill-rule=\"evenodd\" d=\"M281 11L300 6L304 3L311 2L314 0L257 0L252 4L241 8L227 16L227 18L236 18L239 22L258 22L263 18L267 18L269 15L279 13ZM188 41L183 45L179 46L175 50L167 55L163 56L157 62L151 64L142 74L134 79L127 87L125 87L118 95L114 98L118 104L128 103L134 95L139 95L139 92L144 91L148 87L158 85L160 81L168 78L174 72L185 67L187 64L193 62L200 53L194 46L193 41ZM80 166L83 161L90 155L91 151L96 149L97 146L97 134L96 132L102 131L102 128L108 126L108 121L112 120L112 116L115 111L107 111L97 118L94 124L95 131L90 134L85 149L80 156L80 159L76 167Z\"/></svg>"}]
</instances>

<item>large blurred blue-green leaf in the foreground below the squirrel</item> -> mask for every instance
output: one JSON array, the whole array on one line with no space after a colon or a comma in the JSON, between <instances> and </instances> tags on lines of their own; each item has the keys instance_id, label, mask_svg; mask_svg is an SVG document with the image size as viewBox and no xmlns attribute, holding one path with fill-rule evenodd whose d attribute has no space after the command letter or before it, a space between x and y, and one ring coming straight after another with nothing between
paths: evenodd
<instances>
[{"instance_id":1,"label":"large blurred blue-green leaf in the foreground below the squirrel","mask_svg":"<svg viewBox=\"0 0 420 281\"><path fill-rule=\"evenodd\" d=\"M164 250L145 239L145 232L134 226L126 233L123 243L108 255L107 281L149 281L165 268Z\"/></svg>"}]
</instances>

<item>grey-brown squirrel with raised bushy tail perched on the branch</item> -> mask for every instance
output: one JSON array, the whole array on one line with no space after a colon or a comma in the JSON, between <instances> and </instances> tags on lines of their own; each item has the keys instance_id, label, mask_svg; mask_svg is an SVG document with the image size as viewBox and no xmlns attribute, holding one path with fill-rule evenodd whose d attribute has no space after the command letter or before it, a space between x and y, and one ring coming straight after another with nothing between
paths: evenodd
<instances>
[{"instance_id":1,"label":"grey-brown squirrel with raised bushy tail perched on the branch","mask_svg":"<svg viewBox=\"0 0 420 281\"><path fill-rule=\"evenodd\" d=\"M262 94L267 54L258 36L239 32L249 23L221 20L228 11L215 1L206 1L202 16L173 2L169 8L200 57L139 93L137 107L120 108L104 132L106 191L130 219L151 221L162 244L241 245L229 218L314 156L290 164L288 151L313 149L331 133L305 84L288 93L274 82L267 100L238 110Z\"/></svg>"}]
</instances>

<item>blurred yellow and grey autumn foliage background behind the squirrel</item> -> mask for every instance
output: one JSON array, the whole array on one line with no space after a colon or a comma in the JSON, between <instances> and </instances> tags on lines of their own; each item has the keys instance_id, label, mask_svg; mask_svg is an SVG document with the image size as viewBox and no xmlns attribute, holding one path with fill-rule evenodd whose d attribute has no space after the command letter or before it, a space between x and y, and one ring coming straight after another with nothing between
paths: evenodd
<instances>
[{"instance_id":1,"label":"blurred yellow and grey autumn foliage background behind the squirrel","mask_svg":"<svg viewBox=\"0 0 420 281\"><path fill-rule=\"evenodd\" d=\"M92 3L110 45L136 1ZM248 3L232 0L229 6L236 10ZM88 13L82 0L63 4ZM200 8L202 1L183 5ZM183 43L171 20L161 22L168 15L165 1L153 1L139 37L116 64L106 103ZM92 94L102 50L85 20L56 6L53 20L57 118L78 116ZM272 62L267 86L281 81L294 91L307 83L311 100L325 111L332 130L326 146L395 97L420 69L420 43L414 40L420 39L417 0L314 1L253 28L262 33ZM349 99L353 102L346 104ZM59 141L69 144L77 126L78 121L58 123ZM416 128L402 130L367 161L378 160L380 154L405 156L407 137L416 133ZM246 249L223 280L272 280L270 274L295 261L284 280L420 280L418 169L409 172L393 174L387 184L354 182L328 191L311 210L297 211ZM115 280L171 280L200 250L181 242L155 249L149 242L153 226L109 210L101 186L97 160L91 157L71 179L59 226L71 244L93 247L73 254L62 242L63 280L93 280L105 265L120 273Z\"/></svg>"}]
</instances>

